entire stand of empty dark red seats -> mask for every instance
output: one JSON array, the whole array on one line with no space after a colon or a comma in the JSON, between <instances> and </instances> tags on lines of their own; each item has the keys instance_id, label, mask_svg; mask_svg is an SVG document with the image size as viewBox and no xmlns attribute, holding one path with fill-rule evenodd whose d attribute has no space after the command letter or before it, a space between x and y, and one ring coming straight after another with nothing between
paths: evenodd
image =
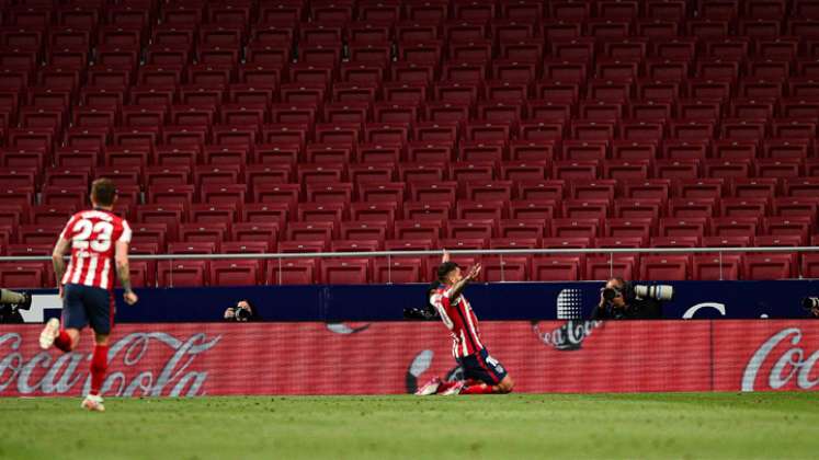
<instances>
[{"instance_id":1,"label":"entire stand of empty dark red seats","mask_svg":"<svg viewBox=\"0 0 819 460\"><path fill-rule=\"evenodd\" d=\"M816 242L814 1L26 0L1 12L2 255L53 242L96 176L116 181L144 253ZM614 265L646 279L816 276L814 255L723 260ZM507 280L610 271L598 257L485 262ZM1 265L4 286L50 283L42 264ZM423 281L428 268L134 265L138 284L177 286Z\"/></svg>"}]
</instances>

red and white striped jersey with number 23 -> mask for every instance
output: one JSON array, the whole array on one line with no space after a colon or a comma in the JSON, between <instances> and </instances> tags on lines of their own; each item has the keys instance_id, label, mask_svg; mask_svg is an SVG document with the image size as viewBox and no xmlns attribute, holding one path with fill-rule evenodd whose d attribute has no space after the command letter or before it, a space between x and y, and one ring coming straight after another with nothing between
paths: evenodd
<instances>
[{"instance_id":1,"label":"red and white striped jersey with number 23","mask_svg":"<svg viewBox=\"0 0 819 460\"><path fill-rule=\"evenodd\" d=\"M130 227L125 219L96 209L77 212L68 220L60 238L71 248L71 261L60 284L113 289L114 243L130 242Z\"/></svg>"}]
</instances>

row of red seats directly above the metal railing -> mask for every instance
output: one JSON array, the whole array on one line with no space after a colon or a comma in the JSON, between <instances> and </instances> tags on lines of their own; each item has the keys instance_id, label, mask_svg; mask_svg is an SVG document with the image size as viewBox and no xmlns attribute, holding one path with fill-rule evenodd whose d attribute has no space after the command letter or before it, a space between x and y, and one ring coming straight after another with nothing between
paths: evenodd
<instances>
[{"instance_id":1,"label":"row of red seats directly above the metal railing","mask_svg":"<svg viewBox=\"0 0 819 460\"><path fill-rule=\"evenodd\" d=\"M770 217L760 221L755 217L728 218L662 218L657 221L650 218L605 219L435 219L398 220L395 223L384 221L334 221L328 215L320 215L320 220L289 222L280 230L277 222L235 222L225 219L224 210L209 212L206 221L178 223L173 221L179 212L156 212L149 222L136 223L133 228L139 244L155 243L158 251L171 250L171 244L209 243L213 250L229 241L262 241L269 244L268 250L278 251L298 248L338 250L339 244L351 244L361 241L376 241L374 248L362 246L362 250L386 248L385 240L407 240L421 244L457 246L468 244L474 249L537 249L542 245L560 248L575 240L581 248L640 248L674 246L695 248L698 244L715 246L801 246L819 239L812 230L809 219L795 217ZM204 212L203 212L204 216ZM318 214L316 216L319 216ZM221 221L218 219L221 218ZM332 219L330 215L329 219ZM48 253L49 245L56 242L64 223L22 225L10 231L0 227L0 242L8 248L3 252L11 254L14 244L29 245L27 252L38 249L37 253ZM809 237L812 234L812 237ZM562 239L562 240L561 240ZM580 239L579 241L576 239ZM420 240L420 242L419 242ZM309 244L307 244L309 242ZM15 251L16 255L25 251Z\"/></svg>"}]
</instances>

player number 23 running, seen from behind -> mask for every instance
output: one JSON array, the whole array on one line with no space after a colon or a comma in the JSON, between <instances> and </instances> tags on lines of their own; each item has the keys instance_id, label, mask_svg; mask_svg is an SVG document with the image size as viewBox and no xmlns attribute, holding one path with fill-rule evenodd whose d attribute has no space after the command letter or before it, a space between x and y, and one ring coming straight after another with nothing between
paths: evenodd
<instances>
[{"instance_id":1,"label":"player number 23 running, seen from behind","mask_svg":"<svg viewBox=\"0 0 819 460\"><path fill-rule=\"evenodd\" d=\"M39 346L52 345L65 353L80 342L80 330L91 324L94 331L94 353L91 358L91 391L81 406L89 411L105 411L100 390L107 369L109 334L114 324L114 271L125 289L125 303L134 304L137 296L130 290L128 243L130 227L113 214L116 188L107 179L98 179L91 186L93 209L71 216L54 246L52 258L62 298L62 324L56 318L46 323L39 334ZM71 250L66 267L62 256Z\"/></svg>"}]
</instances>

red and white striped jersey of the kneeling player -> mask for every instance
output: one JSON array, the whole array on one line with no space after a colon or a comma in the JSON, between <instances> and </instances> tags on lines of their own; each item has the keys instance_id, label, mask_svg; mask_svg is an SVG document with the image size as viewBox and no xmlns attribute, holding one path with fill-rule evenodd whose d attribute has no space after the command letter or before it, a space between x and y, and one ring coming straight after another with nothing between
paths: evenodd
<instances>
[{"instance_id":1,"label":"red and white striped jersey of the kneeling player","mask_svg":"<svg viewBox=\"0 0 819 460\"><path fill-rule=\"evenodd\" d=\"M452 334L452 355L462 358L479 353L484 344L478 332L478 318L465 296L452 299L451 295L452 288L441 285L432 292L430 302Z\"/></svg>"}]
</instances>

